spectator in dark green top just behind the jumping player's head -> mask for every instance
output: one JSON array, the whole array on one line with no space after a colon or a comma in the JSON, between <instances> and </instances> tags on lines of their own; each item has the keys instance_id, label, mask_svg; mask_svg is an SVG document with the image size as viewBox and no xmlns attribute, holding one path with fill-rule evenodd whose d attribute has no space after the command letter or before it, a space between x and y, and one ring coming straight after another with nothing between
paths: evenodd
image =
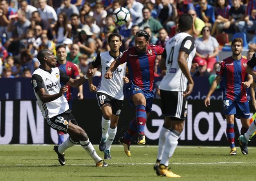
<instances>
[{"instance_id":1,"label":"spectator in dark green top just behind the jumping player's head","mask_svg":"<svg viewBox=\"0 0 256 181\"><path fill-rule=\"evenodd\" d=\"M151 17L150 9L147 7L142 9L142 14L144 19L139 23L139 28L144 29L144 27L149 27L152 31L152 36L157 37L159 29L163 28L160 21Z\"/></svg>"}]
</instances>

